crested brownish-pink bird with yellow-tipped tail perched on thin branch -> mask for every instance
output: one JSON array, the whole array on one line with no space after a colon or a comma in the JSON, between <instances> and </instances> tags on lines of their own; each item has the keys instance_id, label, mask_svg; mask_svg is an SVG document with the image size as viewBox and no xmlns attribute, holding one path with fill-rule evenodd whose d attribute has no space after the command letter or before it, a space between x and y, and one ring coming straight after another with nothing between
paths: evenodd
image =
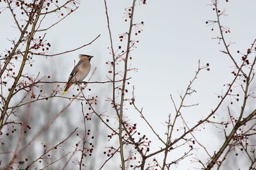
<instances>
[{"instance_id":1,"label":"crested brownish-pink bird with yellow-tipped tail perched on thin branch","mask_svg":"<svg viewBox=\"0 0 256 170\"><path fill-rule=\"evenodd\" d=\"M65 90L63 91L63 94L65 94L68 90L68 88L76 82L81 82L85 77L88 75L91 69L90 61L93 58L91 55L86 54L79 54L79 62L74 67L74 69L71 71L67 84L65 85Z\"/></svg>"}]
</instances>

